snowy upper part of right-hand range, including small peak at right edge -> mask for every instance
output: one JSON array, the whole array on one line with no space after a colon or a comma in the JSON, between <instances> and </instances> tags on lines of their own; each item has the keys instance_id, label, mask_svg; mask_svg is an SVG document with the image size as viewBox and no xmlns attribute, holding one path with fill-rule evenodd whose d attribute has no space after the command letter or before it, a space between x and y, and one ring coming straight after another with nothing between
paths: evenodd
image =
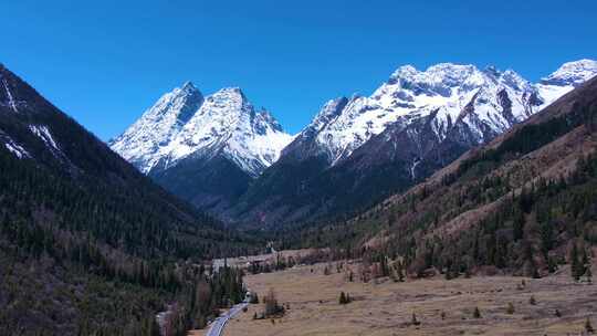
<instances>
[{"instance_id":1,"label":"snowy upper part of right-hand range, including small peak at right edge","mask_svg":"<svg viewBox=\"0 0 597 336\"><path fill-rule=\"evenodd\" d=\"M481 144L488 133L505 132L597 74L596 63L566 63L538 84L512 70L442 63L418 71L405 65L369 97L328 102L297 139L313 137L335 165L389 125L407 126L434 114L432 127L440 140L461 118ZM343 108L335 108L339 103Z\"/></svg>"}]
</instances>

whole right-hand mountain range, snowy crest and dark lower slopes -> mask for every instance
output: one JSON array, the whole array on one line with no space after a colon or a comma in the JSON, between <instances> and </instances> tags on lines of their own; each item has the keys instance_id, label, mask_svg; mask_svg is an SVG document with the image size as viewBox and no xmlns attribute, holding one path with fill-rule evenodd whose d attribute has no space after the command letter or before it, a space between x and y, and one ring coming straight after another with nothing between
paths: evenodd
<instances>
[{"instance_id":1,"label":"whole right-hand mountain range, snowy crest and dark lower slopes","mask_svg":"<svg viewBox=\"0 0 597 336\"><path fill-rule=\"evenodd\" d=\"M588 60L566 63L537 84L492 66L401 66L368 97L326 103L252 183L235 216L272 223L355 211L492 140L595 75L596 62Z\"/></svg>"}]
</instances>

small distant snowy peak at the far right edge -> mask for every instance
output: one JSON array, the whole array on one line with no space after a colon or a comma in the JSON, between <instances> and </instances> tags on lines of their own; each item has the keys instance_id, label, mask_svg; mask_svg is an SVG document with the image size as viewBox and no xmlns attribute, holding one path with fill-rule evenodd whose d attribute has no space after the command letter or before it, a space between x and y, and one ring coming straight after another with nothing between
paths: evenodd
<instances>
[{"instance_id":1,"label":"small distant snowy peak at the far right edge","mask_svg":"<svg viewBox=\"0 0 597 336\"><path fill-rule=\"evenodd\" d=\"M558 70L542 80L544 85L578 86L597 75L597 61L578 60L562 64Z\"/></svg>"}]
</instances>

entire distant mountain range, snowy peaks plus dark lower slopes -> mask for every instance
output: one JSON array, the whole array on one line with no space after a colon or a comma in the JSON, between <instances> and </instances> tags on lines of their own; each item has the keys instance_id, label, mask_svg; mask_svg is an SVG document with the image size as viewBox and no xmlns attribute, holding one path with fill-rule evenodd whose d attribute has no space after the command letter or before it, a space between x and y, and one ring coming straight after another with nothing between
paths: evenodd
<instances>
[{"instance_id":1,"label":"entire distant mountain range, snowy peaks plus dark lower slopes","mask_svg":"<svg viewBox=\"0 0 597 336\"><path fill-rule=\"evenodd\" d=\"M399 67L368 97L329 101L292 137L239 88L187 83L111 147L158 183L230 222L345 217L421 181L597 74L562 65L533 84L512 70Z\"/></svg>"}]
</instances>

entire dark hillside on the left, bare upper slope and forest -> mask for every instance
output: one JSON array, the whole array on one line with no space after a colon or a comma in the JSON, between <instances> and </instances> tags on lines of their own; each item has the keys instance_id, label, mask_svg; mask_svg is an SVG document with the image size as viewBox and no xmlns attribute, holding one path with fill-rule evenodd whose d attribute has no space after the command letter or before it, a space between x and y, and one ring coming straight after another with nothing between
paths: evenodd
<instances>
[{"instance_id":1,"label":"entire dark hillside on the left, bare upper slope and forest","mask_svg":"<svg viewBox=\"0 0 597 336\"><path fill-rule=\"evenodd\" d=\"M0 334L155 335L238 302L240 274L209 276L251 241L155 186L0 66ZM201 308L189 293L209 284ZM10 332L7 332L10 330Z\"/></svg>"}]
</instances>

